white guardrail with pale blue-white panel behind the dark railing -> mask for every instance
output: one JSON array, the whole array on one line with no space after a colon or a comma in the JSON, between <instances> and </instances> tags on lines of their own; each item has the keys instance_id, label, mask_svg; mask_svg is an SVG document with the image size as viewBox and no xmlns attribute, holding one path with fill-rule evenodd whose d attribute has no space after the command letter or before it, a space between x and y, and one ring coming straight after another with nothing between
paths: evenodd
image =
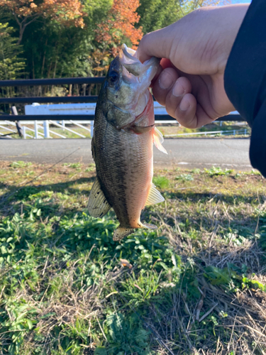
<instances>
[{"instance_id":1,"label":"white guardrail with pale blue-white panel behind the dark railing","mask_svg":"<svg viewBox=\"0 0 266 355\"><path fill-rule=\"evenodd\" d=\"M84 115L94 115L96 108L96 104L38 104L37 102L31 104L31 105L26 105L25 106L25 114L31 116L31 115L58 115L58 121L52 121L52 120L45 120L43 121L43 124L40 124L40 121L21 121L21 126L22 126L22 132L23 132L23 138L35 138L35 139L42 139L42 138L52 138L50 136L50 133L54 136L58 136L60 138L67 138L67 136L64 135L64 131L69 131L71 133L74 133L74 135L77 135L81 138L86 138L84 134L74 131L73 126L79 127L79 129L84 129L84 131L89 131L90 136L92 137L93 135L93 128L94 128L94 121L77 121L74 119L74 116L77 114L84 114ZM155 114L167 114L167 111L165 107L160 105L158 102L154 102L154 111ZM73 115L73 120L60 120L60 115L62 114L72 114ZM231 114L238 114L237 111L231 112ZM18 116L19 118L19 116ZM178 124L177 121L155 121L157 124L165 123L165 124ZM86 124L87 126L84 126ZM12 133L16 133L15 130L10 129L5 126L15 126L16 124L11 121L3 121L1 122L1 129L4 129L5 131L10 131ZM34 126L34 129L31 127L28 127L27 125ZM58 133L57 131L53 131L50 129L50 126L57 126L62 129L62 132ZM67 125L71 125L71 129L67 127ZM88 127L89 125L89 127ZM27 133L27 131L34 132L34 136L31 136ZM243 131L243 130L242 130ZM195 132L195 133L181 133L181 134L174 134L174 135L168 135L165 137L170 137L170 136L190 136L190 135L207 135L207 134L228 134L229 131L211 131L211 132ZM238 133L238 130L235 131L233 130L233 134ZM246 134L246 130L244 133L240 134ZM3 136L3 133L0 133L0 136Z\"/></svg>"}]
</instances>

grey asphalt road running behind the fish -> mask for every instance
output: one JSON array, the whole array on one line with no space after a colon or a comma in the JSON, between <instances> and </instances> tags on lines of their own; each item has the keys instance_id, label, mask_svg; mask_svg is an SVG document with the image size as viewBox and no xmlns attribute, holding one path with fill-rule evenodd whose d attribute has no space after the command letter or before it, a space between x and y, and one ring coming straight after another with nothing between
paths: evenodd
<instances>
[{"instance_id":1,"label":"grey asphalt road running behind the fish","mask_svg":"<svg viewBox=\"0 0 266 355\"><path fill-rule=\"evenodd\" d=\"M250 170L248 138L165 139L168 155L154 148L155 167L221 168ZM90 139L0 139L0 160L36 163L92 163Z\"/></svg>"}]
</instances>

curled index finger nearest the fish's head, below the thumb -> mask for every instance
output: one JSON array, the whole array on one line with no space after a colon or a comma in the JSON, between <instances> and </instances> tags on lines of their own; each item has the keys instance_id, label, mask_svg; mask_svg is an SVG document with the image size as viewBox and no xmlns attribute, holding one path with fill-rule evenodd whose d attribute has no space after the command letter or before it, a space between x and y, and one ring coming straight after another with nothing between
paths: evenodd
<instances>
[{"instance_id":1,"label":"curled index finger nearest the fish's head, below the thumb","mask_svg":"<svg viewBox=\"0 0 266 355\"><path fill-rule=\"evenodd\" d=\"M153 95L157 102L165 106L167 94L171 91L174 83L178 79L177 70L166 68L162 70L157 80L153 83Z\"/></svg>"}]
</instances>

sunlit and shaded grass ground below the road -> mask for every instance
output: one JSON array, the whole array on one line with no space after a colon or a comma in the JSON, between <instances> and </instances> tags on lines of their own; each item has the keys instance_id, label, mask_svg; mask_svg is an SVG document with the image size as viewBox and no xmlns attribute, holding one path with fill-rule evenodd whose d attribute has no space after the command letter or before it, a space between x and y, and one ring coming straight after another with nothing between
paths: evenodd
<instances>
[{"instance_id":1,"label":"sunlit and shaded grass ground below the road","mask_svg":"<svg viewBox=\"0 0 266 355\"><path fill-rule=\"evenodd\" d=\"M94 178L0 163L0 354L265 354L265 179L156 170L158 229L119 244L87 213Z\"/></svg>"}]
</instances>

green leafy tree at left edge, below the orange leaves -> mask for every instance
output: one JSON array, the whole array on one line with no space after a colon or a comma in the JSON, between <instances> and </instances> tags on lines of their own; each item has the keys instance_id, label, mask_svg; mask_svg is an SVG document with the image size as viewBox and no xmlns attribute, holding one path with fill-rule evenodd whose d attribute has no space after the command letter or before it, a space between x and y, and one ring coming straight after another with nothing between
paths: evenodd
<instances>
[{"instance_id":1,"label":"green leafy tree at left edge, below the orange leaves","mask_svg":"<svg viewBox=\"0 0 266 355\"><path fill-rule=\"evenodd\" d=\"M9 23L0 23L0 80L16 79L25 68L25 62L18 59L21 46L16 45L18 38L12 37L13 32Z\"/></svg>"}]
</instances>

